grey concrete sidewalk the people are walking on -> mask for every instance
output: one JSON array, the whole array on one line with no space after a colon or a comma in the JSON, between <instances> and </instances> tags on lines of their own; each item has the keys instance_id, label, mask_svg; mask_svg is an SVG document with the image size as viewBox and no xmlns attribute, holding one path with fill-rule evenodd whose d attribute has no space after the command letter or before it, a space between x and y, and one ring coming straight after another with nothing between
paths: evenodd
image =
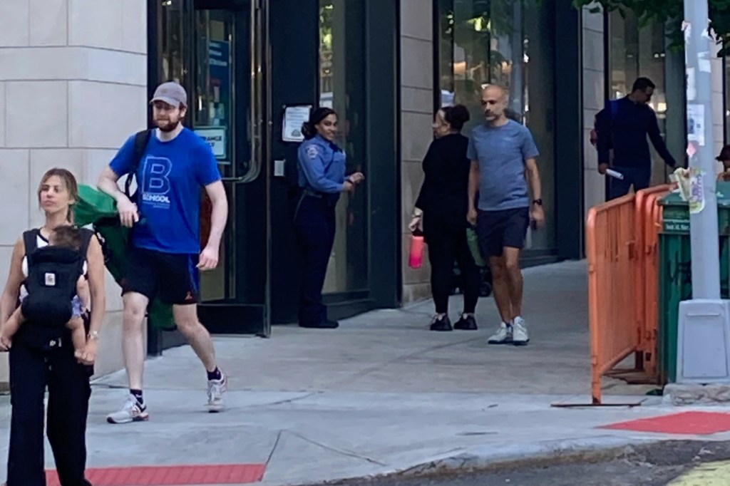
<instances>
[{"instance_id":1,"label":"grey concrete sidewalk the people are walking on","mask_svg":"<svg viewBox=\"0 0 730 486\"><path fill-rule=\"evenodd\" d=\"M148 423L104 421L126 398L123 372L95 383L88 465L252 463L266 468L262 484L307 485L676 437L599 428L677 411L645 396L649 387L607 384L606 401L642 401L634 408L551 406L590 403L585 275L583 262L525 272L528 347L488 346L499 323L491 298L480 301L475 332L428 331L424 303L335 331L285 326L272 339L218 338L231 388L222 414L204 412L205 374L191 349L169 350L147 362ZM6 455L0 449L3 463ZM50 450L47 458L52 468Z\"/></svg>"}]
</instances>

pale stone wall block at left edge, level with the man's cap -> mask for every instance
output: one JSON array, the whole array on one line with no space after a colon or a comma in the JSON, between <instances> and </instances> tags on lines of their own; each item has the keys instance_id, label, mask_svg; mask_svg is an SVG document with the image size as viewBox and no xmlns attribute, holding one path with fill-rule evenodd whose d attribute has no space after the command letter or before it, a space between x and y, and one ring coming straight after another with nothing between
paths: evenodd
<instances>
[{"instance_id":1,"label":"pale stone wall block at left edge, level with the man's cap","mask_svg":"<svg viewBox=\"0 0 730 486\"><path fill-rule=\"evenodd\" d=\"M7 82L7 147L66 147L68 85L65 81Z\"/></svg>"}]
</instances>

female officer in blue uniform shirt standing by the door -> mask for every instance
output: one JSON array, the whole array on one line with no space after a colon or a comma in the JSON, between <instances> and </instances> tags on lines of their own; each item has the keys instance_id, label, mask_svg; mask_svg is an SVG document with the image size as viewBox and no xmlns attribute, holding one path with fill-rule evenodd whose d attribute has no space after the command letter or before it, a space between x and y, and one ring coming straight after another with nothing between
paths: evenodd
<instances>
[{"instance_id":1,"label":"female officer in blue uniform shirt standing by the door","mask_svg":"<svg viewBox=\"0 0 730 486\"><path fill-rule=\"evenodd\" d=\"M301 129L297 167L301 194L294 212L294 228L303 258L299 292L299 325L337 328L322 304L327 263L334 245L335 206L340 193L351 193L362 180L356 172L345 178L345 153L334 143L337 113L320 107Z\"/></svg>"}]
</instances>

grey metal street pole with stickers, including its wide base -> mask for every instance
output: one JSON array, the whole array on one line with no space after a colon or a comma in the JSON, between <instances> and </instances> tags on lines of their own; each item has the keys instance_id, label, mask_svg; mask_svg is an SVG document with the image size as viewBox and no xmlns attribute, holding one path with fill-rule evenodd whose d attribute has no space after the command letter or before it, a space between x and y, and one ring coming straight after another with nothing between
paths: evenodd
<instances>
[{"instance_id":1,"label":"grey metal street pole with stickers, including its wide base","mask_svg":"<svg viewBox=\"0 0 730 486\"><path fill-rule=\"evenodd\" d=\"M730 301L720 298L710 78L710 42L714 41L708 34L707 0L685 0L684 12L687 153L691 177L683 182L690 182L686 196L690 213L692 300L680 302L679 307L676 382L679 387L699 386L691 390L690 396L702 396L715 393L708 391L712 387L707 385L730 382ZM664 393L672 396L672 391L666 388ZM681 395L682 391L677 393Z\"/></svg>"}]
</instances>

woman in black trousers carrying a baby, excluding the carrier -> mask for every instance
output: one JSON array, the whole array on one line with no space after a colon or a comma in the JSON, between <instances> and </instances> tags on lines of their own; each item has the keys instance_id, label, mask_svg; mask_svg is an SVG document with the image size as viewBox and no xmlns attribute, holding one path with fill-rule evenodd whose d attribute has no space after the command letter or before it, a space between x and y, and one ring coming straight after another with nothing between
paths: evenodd
<instances>
[{"instance_id":1,"label":"woman in black trousers carrying a baby, excluding the carrier","mask_svg":"<svg viewBox=\"0 0 730 486\"><path fill-rule=\"evenodd\" d=\"M79 200L74 175L66 169L50 169L42 177L38 201L45 212L45 224L34 236L35 247L49 244L52 231L73 225L73 205ZM99 352L99 331L106 309L104 292L104 255L91 230L81 228L89 238L86 252L88 285L91 290L91 315L83 350L74 352L71 331L65 326L27 322L12 337L0 338L0 351L8 351L10 369L10 444L5 486L45 486L43 431L53 450L61 486L91 486L85 479L86 418L88 414L93 363ZM29 240L32 242L32 239ZM2 323L18 305L23 284L23 236L15 243L5 290L0 298ZM47 421L44 403L48 388Z\"/></svg>"}]
</instances>

